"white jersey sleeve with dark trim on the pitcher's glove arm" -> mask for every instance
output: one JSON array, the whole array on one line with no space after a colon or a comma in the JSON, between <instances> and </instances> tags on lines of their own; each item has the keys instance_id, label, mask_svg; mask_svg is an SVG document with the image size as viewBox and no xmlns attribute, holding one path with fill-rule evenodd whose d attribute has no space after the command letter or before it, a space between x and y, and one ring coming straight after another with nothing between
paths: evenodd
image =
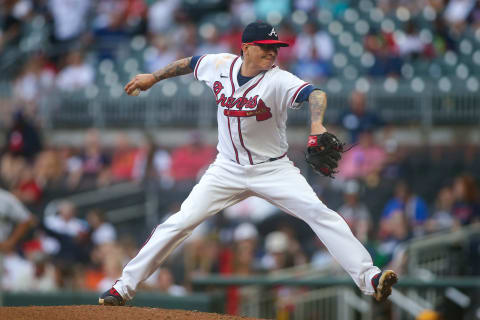
<instances>
[{"instance_id":1,"label":"white jersey sleeve with dark trim on the pitcher's glove arm","mask_svg":"<svg viewBox=\"0 0 480 320\"><path fill-rule=\"evenodd\" d=\"M277 94L280 97L281 104L288 108L299 108L304 100L297 101L297 98L303 89L308 89L307 87L311 84L283 70L276 78L279 86Z\"/></svg>"}]
</instances>

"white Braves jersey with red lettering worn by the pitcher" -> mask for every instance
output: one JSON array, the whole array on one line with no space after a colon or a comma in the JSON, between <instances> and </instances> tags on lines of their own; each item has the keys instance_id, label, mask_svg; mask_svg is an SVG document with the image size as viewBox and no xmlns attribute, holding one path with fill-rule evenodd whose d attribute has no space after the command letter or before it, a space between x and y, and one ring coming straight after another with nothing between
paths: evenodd
<instances>
[{"instance_id":1,"label":"white Braves jersey with red lettering worn by the pitcher","mask_svg":"<svg viewBox=\"0 0 480 320\"><path fill-rule=\"evenodd\" d=\"M285 155L287 108L296 107L295 99L309 83L274 66L239 86L242 62L242 57L232 54L204 55L194 76L215 95L218 152L252 165Z\"/></svg>"}]
</instances>

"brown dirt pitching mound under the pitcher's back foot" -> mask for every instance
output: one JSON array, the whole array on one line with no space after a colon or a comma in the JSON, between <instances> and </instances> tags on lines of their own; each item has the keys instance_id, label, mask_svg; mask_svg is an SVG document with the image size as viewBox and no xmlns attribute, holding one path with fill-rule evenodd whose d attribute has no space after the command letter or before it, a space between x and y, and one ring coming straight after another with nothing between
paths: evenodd
<instances>
[{"instance_id":1,"label":"brown dirt pitching mound under the pitcher's back foot","mask_svg":"<svg viewBox=\"0 0 480 320\"><path fill-rule=\"evenodd\" d=\"M57 307L0 307L2 320L255 320L185 310L138 307L57 306ZM258 320L258 319L256 319Z\"/></svg>"}]
</instances>

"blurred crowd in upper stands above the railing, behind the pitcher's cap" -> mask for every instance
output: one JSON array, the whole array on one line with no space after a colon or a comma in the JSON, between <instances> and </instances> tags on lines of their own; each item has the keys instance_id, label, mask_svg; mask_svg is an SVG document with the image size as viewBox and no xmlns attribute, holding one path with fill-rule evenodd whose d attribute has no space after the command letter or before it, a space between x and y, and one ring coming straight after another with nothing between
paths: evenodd
<instances>
[{"instance_id":1,"label":"blurred crowd in upper stands above the railing, behind the pitcher's cap","mask_svg":"<svg viewBox=\"0 0 480 320\"><path fill-rule=\"evenodd\" d=\"M459 52L464 35L480 26L480 2L476 0L1 3L0 67L11 71L1 77L14 80L15 97L32 104L52 89L70 92L98 82L99 65L105 60L122 65L140 53L140 59L121 68L128 77L153 72L182 57L238 54L242 29L255 19L277 26L280 37L291 43L280 50L278 64L316 83L335 75L334 64L343 70L350 64L350 54L361 56L365 75L401 77L404 62L431 61L447 52ZM359 12L369 20L359 18ZM389 23L380 23L387 17ZM358 35L354 32L352 38L351 33L342 33L338 21L345 20L355 25ZM343 46L349 49L347 56L338 56L335 62L335 53ZM471 54L475 46L462 44L462 48Z\"/></svg>"}]
</instances>

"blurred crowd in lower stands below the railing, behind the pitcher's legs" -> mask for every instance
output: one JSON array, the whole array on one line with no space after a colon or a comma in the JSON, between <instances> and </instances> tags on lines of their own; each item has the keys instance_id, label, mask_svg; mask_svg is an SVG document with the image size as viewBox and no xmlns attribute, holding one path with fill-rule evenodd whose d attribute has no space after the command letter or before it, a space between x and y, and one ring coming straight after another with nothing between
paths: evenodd
<instances>
[{"instance_id":1,"label":"blurred crowd in lower stands below the railing, behind the pitcher's legs","mask_svg":"<svg viewBox=\"0 0 480 320\"><path fill-rule=\"evenodd\" d=\"M299 160L319 197L344 217L376 265L402 273L407 271L409 240L479 222L480 150L400 146L389 136L388 125L366 108L365 98L353 92L350 109L332 124L353 145L335 180L309 171L300 161L303 146L292 146L289 156ZM0 184L31 212L32 227L21 240L0 243L6 290L108 289L141 247L144 233L130 229L119 234L105 208L79 211L69 197L122 182L153 185L155 197L166 202L156 212L155 221L161 222L177 212L216 155L215 146L198 131L176 148L159 146L148 134L138 143L130 139L119 131L114 143L106 145L101 131L92 128L80 146L51 146L27 115L12 115L0 158ZM24 221L25 214L11 219L13 224ZM478 261L478 252L466 259ZM268 274L305 263L340 272L305 224L253 197L201 224L144 289L183 295L198 274ZM238 311L238 299L231 290L229 312Z\"/></svg>"}]
</instances>

